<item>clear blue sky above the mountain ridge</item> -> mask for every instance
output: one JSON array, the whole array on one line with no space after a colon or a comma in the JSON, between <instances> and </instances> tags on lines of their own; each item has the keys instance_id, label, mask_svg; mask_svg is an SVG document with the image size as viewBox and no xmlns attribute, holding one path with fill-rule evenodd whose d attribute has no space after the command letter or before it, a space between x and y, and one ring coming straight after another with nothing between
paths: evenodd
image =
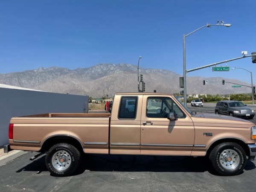
<instances>
[{"instance_id":1,"label":"clear blue sky above the mountain ridge","mask_svg":"<svg viewBox=\"0 0 256 192\"><path fill-rule=\"evenodd\" d=\"M255 0L0 0L0 73L39 67L87 68L134 64L183 76L187 70L256 52ZM250 83L256 64L243 58L187 76L219 76Z\"/></svg>"}]
</instances>

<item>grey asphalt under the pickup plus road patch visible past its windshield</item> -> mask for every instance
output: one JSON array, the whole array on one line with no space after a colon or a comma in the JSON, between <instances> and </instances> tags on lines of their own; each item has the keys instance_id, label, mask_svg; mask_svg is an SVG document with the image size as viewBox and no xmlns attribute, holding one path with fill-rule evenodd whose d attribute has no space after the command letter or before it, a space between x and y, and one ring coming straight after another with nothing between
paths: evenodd
<instances>
[{"instance_id":1,"label":"grey asphalt under the pickup plus road patch visible past its windshield","mask_svg":"<svg viewBox=\"0 0 256 192\"><path fill-rule=\"evenodd\" d=\"M190 107L211 112L215 105ZM54 177L41 156L26 153L0 166L0 192L255 192L255 161L236 176L218 176L205 157L84 155L79 172Z\"/></svg>"}]
</instances>

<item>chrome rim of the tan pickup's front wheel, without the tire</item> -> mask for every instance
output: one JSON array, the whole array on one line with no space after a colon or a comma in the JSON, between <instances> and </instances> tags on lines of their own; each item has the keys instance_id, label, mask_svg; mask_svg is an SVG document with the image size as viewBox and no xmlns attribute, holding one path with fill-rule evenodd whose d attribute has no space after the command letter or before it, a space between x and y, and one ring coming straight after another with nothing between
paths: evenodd
<instances>
[{"instance_id":1,"label":"chrome rim of the tan pickup's front wheel, without the tire","mask_svg":"<svg viewBox=\"0 0 256 192\"><path fill-rule=\"evenodd\" d=\"M221 152L219 161L223 168L232 170L236 169L236 167L239 165L240 157L239 154L233 149L226 149Z\"/></svg>"}]
</instances>

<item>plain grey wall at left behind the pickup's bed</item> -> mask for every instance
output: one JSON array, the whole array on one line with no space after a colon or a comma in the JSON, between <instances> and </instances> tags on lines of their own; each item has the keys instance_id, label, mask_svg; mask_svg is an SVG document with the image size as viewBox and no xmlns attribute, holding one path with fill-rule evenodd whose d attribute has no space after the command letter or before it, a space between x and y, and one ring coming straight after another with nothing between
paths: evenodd
<instances>
[{"instance_id":1,"label":"plain grey wall at left behind the pickup's bed","mask_svg":"<svg viewBox=\"0 0 256 192\"><path fill-rule=\"evenodd\" d=\"M0 87L0 146L8 143L9 121L14 116L84 113L87 110L88 96Z\"/></svg>"}]
</instances>

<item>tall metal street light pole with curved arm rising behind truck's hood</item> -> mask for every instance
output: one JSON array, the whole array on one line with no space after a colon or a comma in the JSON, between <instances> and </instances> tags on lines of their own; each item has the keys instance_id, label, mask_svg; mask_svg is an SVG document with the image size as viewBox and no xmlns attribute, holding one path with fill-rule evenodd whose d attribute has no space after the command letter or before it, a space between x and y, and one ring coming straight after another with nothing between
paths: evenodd
<instances>
[{"instance_id":1,"label":"tall metal street light pole with curved arm rising behind truck's hood","mask_svg":"<svg viewBox=\"0 0 256 192\"><path fill-rule=\"evenodd\" d=\"M214 24L214 25L211 25L211 24L207 23L207 25L202 26L202 27L196 29L195 31L193 31L193 32L191 32L187 35L183 35L183 81L184 81L184 105L185 106L186 106L186 101L187 101L187 99L186 99L186 73L187 73L187 71L186 71L186 43L185 43L185 38L187 36L191 35L192 33L197 32L198 30L204 28L204 27L210 27L210 26L230 27L231 26L231 24L223 24L223 23L224 23L223 21L221 21L221 24Z\"/></svg>"}]
</instances>

